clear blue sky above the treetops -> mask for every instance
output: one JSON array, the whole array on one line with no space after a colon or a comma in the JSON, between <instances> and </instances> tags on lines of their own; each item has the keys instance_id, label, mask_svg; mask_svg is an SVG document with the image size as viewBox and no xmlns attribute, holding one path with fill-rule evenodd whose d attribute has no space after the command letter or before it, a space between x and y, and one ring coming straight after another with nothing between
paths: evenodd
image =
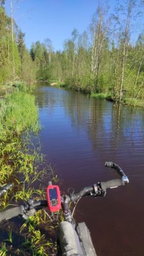
<instances>
[{"instance_id":1,"label":"clear blue sky above the treetops","mask_svg":"<svg viewBox=\"0 0 144 256\"><path fill-rule=\"evenodd\" d=\"M70 38L74 28L79 33L88 29L98 3L108 3L113 11L116 0L12 0L13 19L26 33L28 49L36 41L52 41L54 50L62 50L65 39ZM122 0L123 1L123 0ZM139 1L139 0L136 0ZM10 0L6 0L6 12L10 15Z\"/></svg>"}]
</instances>

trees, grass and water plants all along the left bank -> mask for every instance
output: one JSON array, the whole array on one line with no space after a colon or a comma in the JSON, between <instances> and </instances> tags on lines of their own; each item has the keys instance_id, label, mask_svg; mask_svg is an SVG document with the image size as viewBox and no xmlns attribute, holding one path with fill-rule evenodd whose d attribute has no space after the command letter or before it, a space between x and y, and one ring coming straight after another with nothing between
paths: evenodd
<instances>
[{"instance_id":1,"label":"trees, grass and water plants all along the left bank","mask_svg":"<svg viewBox=\"0 0 144 256\"><path fill-rule=\"evenodd\" d=\"M0 96L4 95L0 99L0 185L12 182L13 188L0 199L1 211L30 197L44 198L40 183L45 175L52 173L51 179L57 179L32 142L38 140L40 129L31 94L36 67L24 44L24 33L6 15L4 2L0 1ZM22 223L18 228L11 221L1 223L0 255L48 255L54 243L45 230L50 227L45 212Z\"/></svg>"}]
</instances>

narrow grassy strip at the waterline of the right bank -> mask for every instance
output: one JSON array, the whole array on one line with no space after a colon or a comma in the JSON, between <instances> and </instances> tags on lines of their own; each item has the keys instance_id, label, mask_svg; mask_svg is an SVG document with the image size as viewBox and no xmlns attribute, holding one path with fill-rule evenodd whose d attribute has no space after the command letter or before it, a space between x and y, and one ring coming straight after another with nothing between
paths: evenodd
<instances>
[{"instance_id":1,"label":"narrow grassy strip at the waterline of the right bank","mask_svg":"<svg viewBox=\"0 0 144 256\"><path fill-rule=\"evenodd\" d=\"M131 98L125 98L121 101L114 99L110 93L95 93L95 92L90 92L89 90L85 90L84 88L74 88L72 86L69 86L68 84L58 82L58 81L47 81L51 86L57 87L57 88L66 88L68 90L74 90L76 92L81 92L87 95L90 95L90 97L95 98L95 99L105 99L110 102L115 102L115 103L122 103L126 106L132 106L132 107L140 107L144 108L144 102L143 100L135 100Z\"/></svg>"}]
</instances>

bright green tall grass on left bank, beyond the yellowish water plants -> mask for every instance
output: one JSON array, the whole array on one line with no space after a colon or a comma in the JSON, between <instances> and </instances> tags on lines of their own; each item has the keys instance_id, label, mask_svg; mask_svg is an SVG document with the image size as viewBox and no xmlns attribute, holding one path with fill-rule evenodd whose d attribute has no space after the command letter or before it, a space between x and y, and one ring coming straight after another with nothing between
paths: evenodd
<instances>
[{"instance_id":1,"label":"bright green tall grass on left bank, beyond the yellowish water plants","mask_svg":"<svg viewBox=\"0 0 144 256\"><path fill-rule=\"evenodd\" d=\"M1 129L20 134L22 131L38 131L38 111L35 97L24 92L13 92L0 102Z\"/></svg>"}]
</instances>

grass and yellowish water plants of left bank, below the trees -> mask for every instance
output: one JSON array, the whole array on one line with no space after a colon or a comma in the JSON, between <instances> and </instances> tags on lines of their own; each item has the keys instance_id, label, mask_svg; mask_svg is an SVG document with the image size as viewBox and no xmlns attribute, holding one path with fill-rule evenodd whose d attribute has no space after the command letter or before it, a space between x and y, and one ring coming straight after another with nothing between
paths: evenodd
<instances>
[{"instance_id":1,"label":"grass and yellowish water plants of left bank, below the trees","mask_svg":"<svg viewBox=\"0 0 144 256\"><path fill-rule=\"evenodd\" d=\"M52 170L51 166L44 168L44 156L31 142L33 137L36 140L39 129L35 97L19 84L0 100L0 185L13 183L11 191L0 199L1 211L12 207L15 202L20 204L31 197L43 199L45 196L40 183ZM45 213L38 212L26 223L23 221L21 228L20 225L18 228L13 226L13 221L6 221L4 226L1 223L2 234L6 230L8 233L6 239L0 241L0 255L48 255L52 243L45 236L46 222L49 227ZM40 231L42 227L43 231ZM19 237L19 242L16 237Z\"/></svg>"}]
</instances>

